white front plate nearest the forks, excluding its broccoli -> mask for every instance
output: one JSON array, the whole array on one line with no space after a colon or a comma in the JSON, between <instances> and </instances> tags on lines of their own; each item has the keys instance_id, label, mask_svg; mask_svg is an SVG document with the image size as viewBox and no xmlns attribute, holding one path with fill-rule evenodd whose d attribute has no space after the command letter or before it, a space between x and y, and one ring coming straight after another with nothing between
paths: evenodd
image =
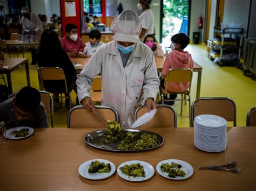
<instances>
[{"instance_id":1,"label":"white front plate nearest the forks, excluding its broccoli","mask_svg":"<svg viewBox=\"0 0 256 191\"><path fill-rule=\"evenodd\" d=\"M181 176L177 176L177 178L171 178L168 176L168 173L166 172L162 172L161 171L161 165L162 164L165 164L165 163L169 163L171 164L172 162L175 162L177 164L180 164L181 165L181 170L183 170L186 175L184 177L181 177ZM190 177L193 172L194 172L194 169L193 167L188 164L187 162L183 161L183 160L177 160L177 159L167 159L167 160L163 160L161 162L159 162L156 166L156 169L157 169L157 172L161 175L161 176L164 176L164 178L167 178L167 179L172 179L172 180L183 180L183 179L187 179L188 177Z\"/></svg>"}]
</instances>

